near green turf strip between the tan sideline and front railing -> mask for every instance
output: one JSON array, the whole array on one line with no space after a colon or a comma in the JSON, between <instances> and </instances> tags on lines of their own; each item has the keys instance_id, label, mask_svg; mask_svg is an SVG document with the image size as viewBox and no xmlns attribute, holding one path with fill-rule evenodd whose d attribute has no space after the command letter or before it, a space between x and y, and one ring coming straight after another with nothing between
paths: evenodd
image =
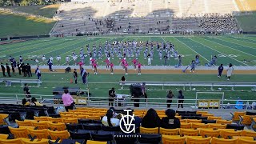
<instances>
[{"instance_id":1,"label":"near green turf strip between the tan sideline and front railing","mask_svg":"<svg viewBox=\"0 0 256 144\"><path fill-rule=\"evenodd\" d=\"M2 75L2 74L1 74ZM115 87L117 94L129 94L129 90L118 90L121 88L119 86L118 81L121 79L122 74L90 74L89 76L89 88L92 97L108 97L108 90L111 87ZM20 76L16 76L15 78L23 78ZM35 78L35 77L34 77ZM54 87L57 86L79 86L81 89L86 89L85 85L82 85L82 80L78 78L78 84L70 83L70 78L73 78L73 74L63 74L63 73L51 73L51 74L42 74L42 86L40 87L31 87L30 91L32 94L46 94L51 95ZM231 82L255 82L256 79L255 74L250 75L233 75L231 78ZM226 77L223 75L222 78L218 78L217 74L142 74L138 76L137 74L128 74L126 76L127 81L162 81L162 82L226 82ZM20 85L6 87L1 84L0 91L4 94L23 94L22 87ZM125 88L128 88L126 86ZM161 86L148 86L150 89L147 94L148 98L166 98L166 90L162 89ZM165 89L174 90L174 95L178 94L176 89L181 87L168 87ZM198 91L210 91L210 87L196 87ZM215 87L215 92L218 91L218 87ZM249 88L238 88L236 90L244 90L244 91L226 91L230 90L230 88L223 88L225 90L225 99L227 100L236 100L238 97L244 100L254 100L256 97L256 92L248 92L246 90L250 90ZM184 91L185 98L195 98L195 91L190 91L188 87L186 87L186 91ZM10 97L10 95L2 95ZM14 96L14 95L12 95ZM176 97L177 98L177 97ZM199 98L221 98L219 94L201 94ZM234 103L234 102L231 102Z\"/></svg>"}]
</instances>

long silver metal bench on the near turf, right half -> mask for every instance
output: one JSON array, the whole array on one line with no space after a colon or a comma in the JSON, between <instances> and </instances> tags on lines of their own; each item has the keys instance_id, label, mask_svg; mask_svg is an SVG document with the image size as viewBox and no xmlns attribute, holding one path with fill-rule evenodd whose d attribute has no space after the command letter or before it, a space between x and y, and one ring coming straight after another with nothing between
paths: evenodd
<instances>
[{"instance_id":1,"label":"long silver metal bench on the near turf, right half","mask_svg":"<svg viewBox=\"0 0 256 144\"><path fill-rule=\"evenodd\" d=\"M182 86L183 90L186 90L186 87L189 87L189 90L193 90L193 86L210 86L210 90L214 90L214 86L220 87L231 87L231 90L234 90L234 87L250 87L252 90L256 91L256 82L152 82L144 81L146 86L162 86L162 90L166 90L164 86ZM142 85L142 81L120 81L119 85L122 86L121 89L124 89L124 86L130 86L134 83L139 83Z\"/></svg>"}]
</instances>

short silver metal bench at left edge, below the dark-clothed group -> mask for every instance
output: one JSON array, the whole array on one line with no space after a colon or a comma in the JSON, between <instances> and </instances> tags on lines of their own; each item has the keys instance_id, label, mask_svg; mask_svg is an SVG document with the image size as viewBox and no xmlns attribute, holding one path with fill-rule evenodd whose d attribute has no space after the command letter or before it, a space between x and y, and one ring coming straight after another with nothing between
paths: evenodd
<instances>
[{"instance_id":1,"label":"short silver metal bench at left edge, below the dark-clothed group","mask_svg":"<svg viewBox=\"0 0 256 144\"><path fill-rule=\"evenodd\" d=\"M22 86L27 84L37 84L40 86L42 82L39 79L19 79L19 78L0 78L0 82L6 82L6 86L11 86L12 83L20 83Z\"/></svg>"}]
</instances>

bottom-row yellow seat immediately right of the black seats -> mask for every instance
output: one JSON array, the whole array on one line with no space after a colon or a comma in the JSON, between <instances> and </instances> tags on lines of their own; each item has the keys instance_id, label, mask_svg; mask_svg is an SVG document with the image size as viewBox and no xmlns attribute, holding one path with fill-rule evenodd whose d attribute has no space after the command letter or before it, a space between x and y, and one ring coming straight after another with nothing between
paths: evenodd
<instances>
[{"instance_id":1,"label":"bottom-row yellow seat immediately right of the black seats","mask_svg":"<svg viewBox=\"0 0 256 144\"><path fill-rule=\"evenodd\" d=\"M184 144L185 141L185 137L178 135L162 135L162 143L164 144Z\"/></svg>"}]
</instances>

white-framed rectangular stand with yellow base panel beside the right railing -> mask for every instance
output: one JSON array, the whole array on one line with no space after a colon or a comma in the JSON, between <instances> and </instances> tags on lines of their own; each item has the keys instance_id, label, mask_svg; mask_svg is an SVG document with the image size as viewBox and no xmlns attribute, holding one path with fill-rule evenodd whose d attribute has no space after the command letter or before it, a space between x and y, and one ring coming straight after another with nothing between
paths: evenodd
<instances>
[{"instance_id":1,"label":"white-framed rectangular stand with yellow base panel beside the right railing","mask_svg":"<svg viewBox=\"0 0 256 144\"><path fill-rule=\"evenodd\" d=\"M195 103L201 108L222 108L224 97L224 92L196 92Z\"/></svg>"}]
</instances>

